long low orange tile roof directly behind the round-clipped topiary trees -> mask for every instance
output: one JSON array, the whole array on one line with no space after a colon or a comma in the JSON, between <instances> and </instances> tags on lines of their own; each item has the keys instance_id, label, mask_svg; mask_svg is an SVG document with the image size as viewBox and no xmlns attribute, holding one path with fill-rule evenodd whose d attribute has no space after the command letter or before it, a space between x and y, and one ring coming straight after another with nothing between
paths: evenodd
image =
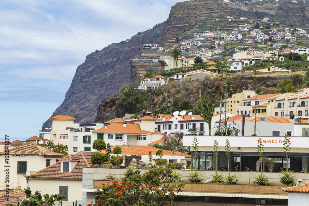
<instances>
[{"instance_id":1,"label":"long low orange tile roof directly behind the round-clipped topiary trees","mask_svg":"<svg viewBox=\"0 0 309 206\"><path fill-rule=\"evenodd\" d=\"M155 153L159 150L159 148L156 147L152 147L149 145L114 145L112 146L112 151L114 149L114 147L120 147L121 148L121 154L123 154L123 152L125 152L125 154L127 155L132 155L132 154L136 154L136 155L148 155L149 152L152 153L152 155L155 156ZM125 149L125 151L123 151L123 149ZM102 153L106 153L106 150L101 151ZM168 155L168 156L173 156L172 151L168 151L168 150L163 150L163 154L164 156ZM164 158L163 156L163 158ZM190 157L191 155L185 154L185 153L181 153L181 152L176 152L175 151L175 156L184 156L184 157Z\"/></svg>"}]
</instances>

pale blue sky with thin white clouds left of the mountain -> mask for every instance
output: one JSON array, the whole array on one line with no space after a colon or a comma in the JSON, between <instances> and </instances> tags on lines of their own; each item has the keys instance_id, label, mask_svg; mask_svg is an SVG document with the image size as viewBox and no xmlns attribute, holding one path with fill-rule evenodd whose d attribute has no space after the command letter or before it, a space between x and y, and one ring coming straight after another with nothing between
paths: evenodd
<instances>
[{"instance_id":1,"label":"pale blue sky with thin white clouds left of the mountain","mask_svg":"<svg viewBox=\"0 0 309 206\"><path fill-rule=\"evenodd\" d=\"M0 141L38 136L87 54L164 22L184 0L1 0Z\"/></svg>"}]
</instances>

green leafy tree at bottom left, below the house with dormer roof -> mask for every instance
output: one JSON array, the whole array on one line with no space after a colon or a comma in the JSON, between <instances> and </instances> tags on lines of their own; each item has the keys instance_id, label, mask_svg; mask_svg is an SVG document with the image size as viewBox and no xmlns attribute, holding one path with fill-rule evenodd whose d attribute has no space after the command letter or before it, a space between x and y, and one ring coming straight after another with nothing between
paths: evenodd
<instances>
[{"instance_id":1,"label":"green leafy tree at bottom left, below the house with dormer roof","mask_svg":"<svg viewBox=\"0 0 309 206\"><path fill-rule=\"evenodd\" d=\"M26 198L21 202L20 206L52 206L55 204L55 201L60 201L66 198L66 195L48 195L45 194L43 197L40 191L36 191L33 195L29 187L24 189Z\"/></svg>"}]
</instances>

